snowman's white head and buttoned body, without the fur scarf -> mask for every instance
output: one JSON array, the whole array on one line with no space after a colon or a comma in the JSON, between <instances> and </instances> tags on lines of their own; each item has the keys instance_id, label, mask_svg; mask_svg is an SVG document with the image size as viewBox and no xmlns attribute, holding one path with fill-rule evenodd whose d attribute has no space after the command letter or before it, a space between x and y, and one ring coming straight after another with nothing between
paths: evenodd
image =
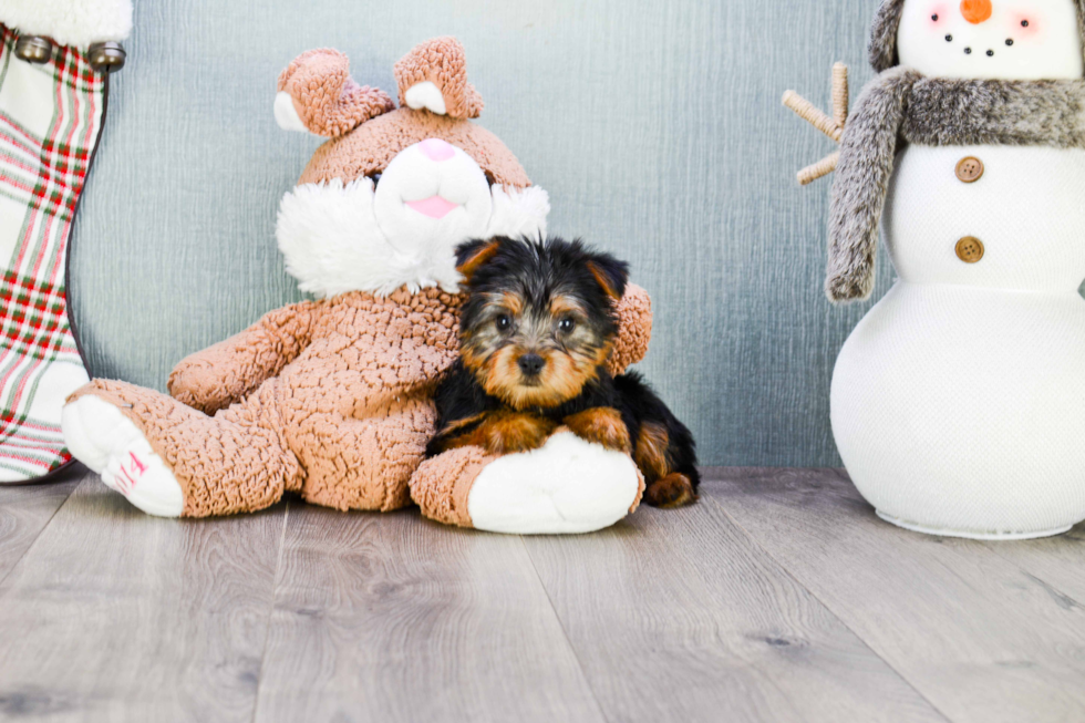
<instances>
[{"instance_id":1,"label":"snowman's white head and buttoned body, without the fur scarf","mask_svg":"<svg viewBox=\"0 0 1085 723\"><path fill-rule=\"evenodd\" d=\"M901 64L1085 74L1072 0L995 0L980 22L964 9L909 0ZM1085 151L910 145L882 228L899 278L841 350L831 391L859 492L941 535L1038 537L1085 519Z\"/></svg>"}]
</instances>

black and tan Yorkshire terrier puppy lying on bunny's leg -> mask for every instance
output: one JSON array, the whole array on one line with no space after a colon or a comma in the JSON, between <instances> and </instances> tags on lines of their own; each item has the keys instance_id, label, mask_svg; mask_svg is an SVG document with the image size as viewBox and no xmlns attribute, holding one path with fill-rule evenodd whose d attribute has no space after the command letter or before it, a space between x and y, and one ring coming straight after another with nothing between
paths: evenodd
<instances>
[{"instance_id":1,"label":"black and tan Yorkshire terrier puppy lying on bunny's leg","mask_svg":"<svg viewBox=\"0 0 1085 723\"><path fill-rule=\"evenodd\" d=\"M436 392L434 456L542 446L559 426L631 454L657 507L696 500L693 436L636 373L612 378L628 267L579 240L495 238L457 249L467 299L459 359Z\"/></svg>"}]
</instances>

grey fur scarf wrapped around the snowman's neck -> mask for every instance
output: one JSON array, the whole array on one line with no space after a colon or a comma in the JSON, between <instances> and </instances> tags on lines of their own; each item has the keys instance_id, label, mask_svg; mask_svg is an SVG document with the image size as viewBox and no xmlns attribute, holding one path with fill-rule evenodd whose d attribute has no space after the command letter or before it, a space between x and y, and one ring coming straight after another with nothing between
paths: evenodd
<instances>
[{"instance_id":1,"label":"grey fur scarf wrapped around the snowman's neck","mask_svg":"<svg viewBox=\"0 0 1085 723\"><path fill-rule=\"evenodd\" d=\"M1085 81L924 78L892 68L864 89L840 138L825 291L874 290L878 225L899 145L1085 148Z\"/></svg>"}]
</instances>

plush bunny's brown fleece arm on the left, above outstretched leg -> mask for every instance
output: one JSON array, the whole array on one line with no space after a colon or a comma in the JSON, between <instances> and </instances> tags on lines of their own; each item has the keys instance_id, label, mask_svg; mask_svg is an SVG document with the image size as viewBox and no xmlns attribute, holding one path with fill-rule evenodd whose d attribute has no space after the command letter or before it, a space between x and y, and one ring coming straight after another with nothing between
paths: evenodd
<instances>
[{"instance_id":1,"label":"plush bunny's brown fleece arm on the left, above outstretched leg","mask_svg":"<svg viewBox=\"0 0 1085 723\"><path fill-rule=\"evenodd\" d=\"M207 414L245 399L309 345L322 309L313 301L276 309L239 334L186 357L169 375L169 393Z\"/></svg>"}]
</instances>

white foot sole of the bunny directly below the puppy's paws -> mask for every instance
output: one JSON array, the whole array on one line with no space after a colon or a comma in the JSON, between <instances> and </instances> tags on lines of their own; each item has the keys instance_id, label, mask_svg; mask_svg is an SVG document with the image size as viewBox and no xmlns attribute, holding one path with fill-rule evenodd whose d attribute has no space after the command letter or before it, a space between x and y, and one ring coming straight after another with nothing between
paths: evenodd
<instances>
[{"instance_id":1,"label":"white foot sole of the bunny directly below the puppy's paws","mask_svg":"<svg viewBox=\"0 0 1085 723\"><path fill-rule=\"evenodd\" d=\"M626 517L639 492L629 455L562 432L539 450L487 465L472 485L467 510L476 529L490 533L575 535Z\"/></svg>"}]
</instances>

